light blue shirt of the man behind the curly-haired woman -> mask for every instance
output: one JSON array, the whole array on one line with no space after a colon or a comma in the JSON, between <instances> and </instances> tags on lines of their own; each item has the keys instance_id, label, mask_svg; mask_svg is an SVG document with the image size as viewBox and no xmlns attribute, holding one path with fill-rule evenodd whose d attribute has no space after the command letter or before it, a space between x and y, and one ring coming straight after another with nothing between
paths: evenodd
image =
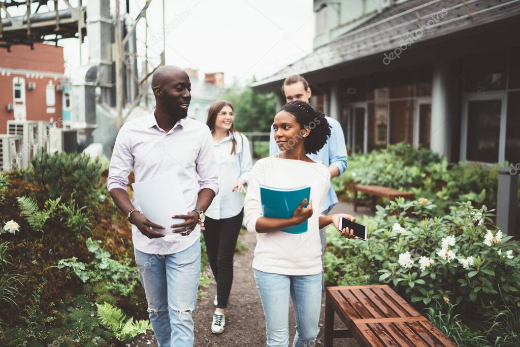
<instances>
[{"instance_id":1,"label":"light blue shirt of the man behind the curly-haired woman","mask_svg":"<svg viewBox=\"0 0 520 347\"><path fill-rule=\"evenodd\" d=\"M331 135L327 143L316 154L310 153L307 155L314 161L321 161L323 165L334 165L340 170L340 175L346 170L347 162L347 148L345 146L345 136L343 136L343 129L340 122L333 118L325 117L329 122L331 128ZM269 156L272 157L280 153L278 145L275 140L275 130L271 126L271 136L269 138ZM329 212L337 203L336 192L332 185L330 186L327 198L323 203L323 212Z\"/></svg>"}]
</instances>

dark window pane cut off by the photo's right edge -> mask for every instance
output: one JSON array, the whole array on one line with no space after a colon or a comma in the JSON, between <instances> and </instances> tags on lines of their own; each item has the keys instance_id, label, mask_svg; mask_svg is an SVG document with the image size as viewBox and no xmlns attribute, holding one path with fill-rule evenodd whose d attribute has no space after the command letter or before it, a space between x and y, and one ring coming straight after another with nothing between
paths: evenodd
<instances>
[{"instance_id":1,"label":"dark window pane cut off by the photo's right edge","mask_svg":"<svg viewBox=\"0 0 520 347\"><path fill-rule=\"evenodd\" d=\"M505 133L505 160L520 163L520 92L510 92L508 95Z\"/></svg>"}]
</instances>

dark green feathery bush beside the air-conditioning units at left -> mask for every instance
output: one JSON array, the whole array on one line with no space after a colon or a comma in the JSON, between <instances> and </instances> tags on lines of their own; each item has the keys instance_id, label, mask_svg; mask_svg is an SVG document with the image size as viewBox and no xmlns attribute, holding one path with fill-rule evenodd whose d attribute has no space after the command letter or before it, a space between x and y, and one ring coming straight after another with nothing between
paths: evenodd
<instances>
[{"instance_id":1,"label":"dark green feathery bush beside the air-conditioning units at left","mask_svg":"<svg viewBox=\"0 0 520 347\"><path fill-rule=\"evenodd\" d=\"M61 198L68 201L71 196L79 206L90 207L99 200L97 190L102 165L85 153L57 153L49 155L40 151L32 160L26 179L43 192L45 198Z\"/></svg>"}]
</instances>

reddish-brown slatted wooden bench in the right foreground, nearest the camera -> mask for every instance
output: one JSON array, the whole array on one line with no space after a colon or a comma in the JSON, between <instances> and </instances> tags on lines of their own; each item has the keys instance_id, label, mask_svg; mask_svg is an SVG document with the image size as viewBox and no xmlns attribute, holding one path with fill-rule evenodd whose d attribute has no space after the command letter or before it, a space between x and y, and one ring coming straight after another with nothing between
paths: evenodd
<instances>
[{"instance_id":1,"label":"reddish-brown slatted wooden bench in the right foreground, nearest the camera","mask_svg":"<svg viewBox=\"0 0 520 347\"><path fill-rule=\"evenodd\" d=\"M334 329L334 313L346 329ZM346 337L362 346L456 347L387 285L326 288L325 346Z\"/></svg>"}]
</instances>

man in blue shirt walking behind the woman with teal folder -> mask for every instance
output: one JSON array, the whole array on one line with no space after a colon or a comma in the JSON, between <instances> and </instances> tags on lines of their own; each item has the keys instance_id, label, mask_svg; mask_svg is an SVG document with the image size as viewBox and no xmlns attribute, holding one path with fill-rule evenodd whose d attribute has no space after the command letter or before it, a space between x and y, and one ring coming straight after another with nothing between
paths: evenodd
<instances>
[{"instance_id":1,"label":"man in blue shirt walking behind the woman with teal folder","mask_svg":"<svg viewBox=\"0 0 520 347\"><path fill-rule=\"evenodd\" d=\"M307 81L300 75L289 76L282 85L282 94L285 101L291 102L301 100L310 104L310 87ZM341 175L347 168L347 148L345 146L345 137L340 122L333 118L326 117L331 125L331 135L327 143L316 154L310 153L307 156L314 161L321 161L323 165L328 166L330 178ZM274 129L271 126L271 135L269 138L269 156L272 157L280 152L276 145L274 137ZM323 203L323 214L327 214L337 203L337 197L332 185L327 194L327 198ZM325 229L320 230L321 239L321 263L323 264L323 254L327 249L327 235Z\"/></svg>"}]
</instances>

